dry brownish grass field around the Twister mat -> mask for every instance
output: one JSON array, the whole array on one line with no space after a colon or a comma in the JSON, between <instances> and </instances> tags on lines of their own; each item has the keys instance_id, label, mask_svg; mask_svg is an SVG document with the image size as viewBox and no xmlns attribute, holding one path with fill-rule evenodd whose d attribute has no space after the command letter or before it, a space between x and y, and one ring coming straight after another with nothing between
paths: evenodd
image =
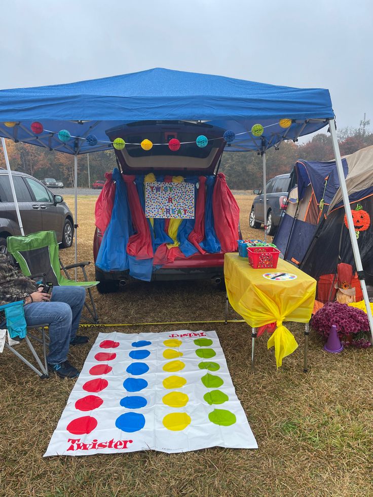
<instances>
[{"instance_id":1,"label":"dry brownish grass field around the Twister mat","mask_svg":"<svg viewBox=\"0 0 373 497\"><path fill-rule=\"evenodd\" d=\"M245 237L252 197L237 195ZM66 201L73 207L72 197ZM95 198L79 199L79 259L92 260ZM65 263L73 249L61 251ZM94 278L93 264L90 277ZM109 295L95 291L103 323L223 319L225 292L209 283L139 282ZM238 316L231 310L230 318ZM373 495L373 354L327 354L311 334L308 374L303 373L303 327L294 323L299 349L276 370L267 338L257 340L249 367L245 323L125 328L120 331L215 329L258 450L210 448L183 454L42 455L57 425L73 380L41 381L8 351L0 355L0 496L7 497L222 497ZM87 331L88 330L88 331ZM92 343L99 331L88 328ZM20 346L23 348L23 346ZM73 348L82 366L90 345Z\"/></svg>"}]
</instances>

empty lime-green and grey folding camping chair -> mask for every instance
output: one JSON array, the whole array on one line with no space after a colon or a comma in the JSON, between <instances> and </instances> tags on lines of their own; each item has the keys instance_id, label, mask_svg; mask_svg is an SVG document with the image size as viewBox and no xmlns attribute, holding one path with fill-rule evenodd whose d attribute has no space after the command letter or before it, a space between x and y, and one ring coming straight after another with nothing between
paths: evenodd
<instances>
[{"instance_id":1,"label":"empty lime-green and grey folding camping chair","mask_svg":"<svg viewBox=\"0 0 373 497\"><path fill-rule=\"evenodd\" d=\"M91 287L96 286L98 281L88 281L85 266L89 261L78 262L64 266L59 258L59 249L54 231L40 231L31 233L26 237L9 237L7 239L8 252L18 262L25 276L31 274L42 274L43 283L51 282L55 286L82 286L88 289L91 307L85 302L85 307L91 315L89 322L98 323L96 306L93 300ZM80 267L85 281L74 281L70 278L67 270ZM65 276L61 274L61 269ZM31 276L31 278L33 278Z\"/></svg>"}]
</instances>

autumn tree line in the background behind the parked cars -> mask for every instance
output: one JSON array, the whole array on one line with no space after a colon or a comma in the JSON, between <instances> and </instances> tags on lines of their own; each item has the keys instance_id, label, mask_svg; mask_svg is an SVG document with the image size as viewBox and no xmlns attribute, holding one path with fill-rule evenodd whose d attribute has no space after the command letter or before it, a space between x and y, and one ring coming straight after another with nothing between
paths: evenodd
<instances>
[{"instance_id":1,"label":"autumn tree line in the background behind the parked cars","mask_svg":"<svg viewBox=\"0 0 373 497\"><path fill-rule=\"evenodd\" d=\"M352 154L356 150L373 145L373 133L365 129L343 128L338 132L341 155ZM72 186L74 181L74 160L69 154L46 150L43 147L14 143L7 140L8 156L12 170L22 171L43 179L53 177L63 181L65 186ZM318 133L307 143L298 144L284 141L279 149L274 147L266 152L267 178L291 171L298 159L306 161L333 160L331 138L325 133ZM105 179L106 171L116 167L114 150L94 152L89 155L91 185L97 179ZM0 154L0 167L5 168L4 154ZM263 184L262 158L255 152L224 152L220 171L227 176L232 189L249 190ZM78 157L78 186L88 187L87 155Z\"/></svg>"}]
</instances>

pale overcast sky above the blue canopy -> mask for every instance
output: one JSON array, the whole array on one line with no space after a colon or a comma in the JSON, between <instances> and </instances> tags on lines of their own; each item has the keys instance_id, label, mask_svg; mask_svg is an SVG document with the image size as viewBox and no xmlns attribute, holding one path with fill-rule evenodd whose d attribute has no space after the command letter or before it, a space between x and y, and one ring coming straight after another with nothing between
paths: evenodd
<instances>
[{"instance_id":1,"label":"pale overcast sky above the blue canopy","mask_svg":"<svg viewBox=\"0 0 373 497\"><path fill-rule=\"evenodd\" d=\"M373 128L372 0L0 0L0 88L152 67L330 91Z\"/></svg>"}]
</instances>

